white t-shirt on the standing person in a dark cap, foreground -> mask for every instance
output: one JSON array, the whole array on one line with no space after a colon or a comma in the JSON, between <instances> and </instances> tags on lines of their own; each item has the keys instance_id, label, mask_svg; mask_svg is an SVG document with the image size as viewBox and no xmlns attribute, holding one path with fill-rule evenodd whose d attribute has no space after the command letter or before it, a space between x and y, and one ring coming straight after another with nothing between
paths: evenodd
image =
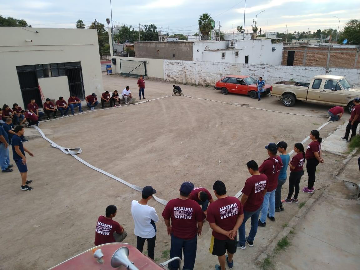
<instances>
[{"instance_id":1,"label":"white t-shirt on the standing person in a dark cap, foreground","mask_svg":"<svg viewBox=\"0 0 360 270\"><path fill-rule=\"evenodd\" d=\"M134 234L136 236L149 239L156 235L154 226L150 224L151 220L159 221L154 207L140 204L134 200L131 202L131 215L135 223Z\"/></svg>"}]
</instances>

